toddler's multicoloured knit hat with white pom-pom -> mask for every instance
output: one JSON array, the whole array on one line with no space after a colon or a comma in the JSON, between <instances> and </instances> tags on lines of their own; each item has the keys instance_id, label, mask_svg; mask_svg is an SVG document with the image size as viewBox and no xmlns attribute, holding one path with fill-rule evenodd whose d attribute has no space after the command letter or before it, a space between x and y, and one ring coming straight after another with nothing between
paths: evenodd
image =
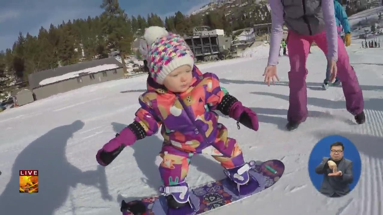
<instances>
[{"instance_id":1,"label":"toddler's multicoloured knit hat with white pom-pom","mask_svg":"<svg viewBox=\"0 0 383 215\"><path fill-rule=\"evenodd\" d=\"M145 30L144 39L147 42L149 72L154 81L160 85L176 68L183 65L193 68L193 52L178 34L167 32L159 26L152 26Z\"/></svg>"}]
</instances>

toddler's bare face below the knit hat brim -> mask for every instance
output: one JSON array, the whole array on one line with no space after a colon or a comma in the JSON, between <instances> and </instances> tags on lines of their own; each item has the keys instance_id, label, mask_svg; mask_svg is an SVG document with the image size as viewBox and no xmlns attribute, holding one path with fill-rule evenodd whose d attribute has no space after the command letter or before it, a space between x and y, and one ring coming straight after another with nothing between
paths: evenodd
<instances>
[{"instance_id":1,"label":"toddler's bare face below the knit hat brim","mask_svg":"<svg viewBox=\"0 0 383 215\"><path fill-rule=\"evenodd\" d=\"M174 93L182 93L189 88L192 79L192 68L189 65L183 65L167 75L164 85Z\"/></svg>"}]
</instances>

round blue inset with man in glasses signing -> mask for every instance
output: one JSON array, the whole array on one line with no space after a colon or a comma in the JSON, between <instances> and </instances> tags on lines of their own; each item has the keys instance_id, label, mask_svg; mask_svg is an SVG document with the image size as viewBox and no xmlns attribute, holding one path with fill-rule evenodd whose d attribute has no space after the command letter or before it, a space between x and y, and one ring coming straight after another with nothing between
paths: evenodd
<instances>
[{"instance_id":1,"label":"round blue inset with man in glasses signing","mask_svg":"<svg viewBox=\"0 0 383 215\"><path fill-rule=\"evenodd\" d=\"M355 145L345 137L332 135L314 146L308 171L319 192L328 197L342 197L357 185L361 166Z\"/></svg>"}]
</instances>

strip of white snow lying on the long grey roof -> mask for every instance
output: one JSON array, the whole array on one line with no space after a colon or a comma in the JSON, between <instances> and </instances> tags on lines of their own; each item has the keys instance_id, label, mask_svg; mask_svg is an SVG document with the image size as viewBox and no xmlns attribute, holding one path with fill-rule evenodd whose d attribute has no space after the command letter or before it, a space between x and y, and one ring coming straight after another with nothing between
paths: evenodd
<instances>
[{"instance_id":1,"label":"strip of white snow lying on the long grey roof","mask_svg":"<svg viewBox=\"0 0 383 215\"><path fill-rule=\"evenodd\" d=\"M111 70L111 69L118 68L118 67L119 67L119 65L117 65L117 64L103 64L103 65L99 65L97 67L90 67L90 68L86 68L86 69L75 71L75 72L69 72L69 73L66 73L64 75L46 78L46 79L40 81L39 85L47 85L50 83L54 83L56 81L62 81L62 80L66 80L69 78L75 78L75 77L78 77L80 73L97 73L100 71Z\"/></svg>"}]
</instances>

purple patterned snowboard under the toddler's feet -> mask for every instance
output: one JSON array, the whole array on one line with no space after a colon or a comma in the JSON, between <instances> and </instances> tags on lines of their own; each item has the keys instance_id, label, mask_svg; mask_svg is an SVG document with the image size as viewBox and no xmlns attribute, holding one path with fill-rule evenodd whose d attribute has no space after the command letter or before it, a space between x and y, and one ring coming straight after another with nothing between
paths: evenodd
<instances>
[{"instance_id":1,"label":"purple patterned snowboard under the toddler's feet","mask_svg":"<svg viewBox=\"0 0 383 215\"><path fill-rule=\"evenodd\" d=\"M257 179L259 186L247 195L238 195L237 186L229 178L191 188L190 200L196 212L188 215L201 214L264 191L282 177L283 171L285 165L280 160L255 161L249 174ZM163 195L121 202L123 215L167 215L167 207L166 197Z\"/></svg>"}]
</instances>

